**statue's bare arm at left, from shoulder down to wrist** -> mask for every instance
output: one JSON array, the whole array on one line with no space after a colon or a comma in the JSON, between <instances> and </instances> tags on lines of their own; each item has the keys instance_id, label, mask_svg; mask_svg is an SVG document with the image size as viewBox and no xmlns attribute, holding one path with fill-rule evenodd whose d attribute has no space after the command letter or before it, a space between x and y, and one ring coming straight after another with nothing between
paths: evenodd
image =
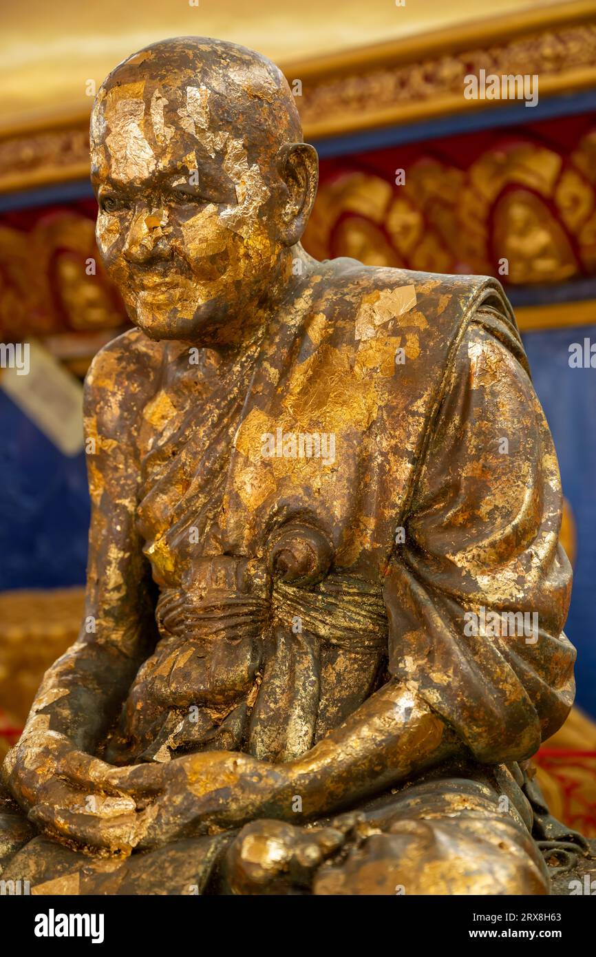
<instances>
[{"instance_id":1,"label":"statue's bare arm at left, from shoulder down to wrist","mask_svg":"<svg viewBox=\"0 0 596 957\"><path fill-rule=\"evenodd\" d=\"M28 809L65 755L74 749L94 752L155 642L149 573L134 523L133 425L142 401L142 371L139 357L117 340L98 354L85 384L92 501L85 612L76 643L46 672L3 769L12 793ZM144 388L149 378L144 370Z\"/></svg>"}]
</instances>

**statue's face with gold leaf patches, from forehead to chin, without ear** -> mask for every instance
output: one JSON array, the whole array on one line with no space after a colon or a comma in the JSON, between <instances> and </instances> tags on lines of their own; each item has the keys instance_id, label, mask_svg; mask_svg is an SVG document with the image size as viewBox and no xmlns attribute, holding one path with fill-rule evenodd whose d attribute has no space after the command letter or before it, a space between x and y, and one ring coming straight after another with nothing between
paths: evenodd
<instances>
[{"instance_id":1,"label":"statue's face with gold leaf patches, from forehead to chin, without ear","mask_svg":"<svg viewBox=\"0 0 596 957\"><path fill-rule=\"evenodd\" d=\"M215 328L225 342L229 327L232 340L280 268L275 153L254 127L217 120L212 98L196 80L163 92L143 79L108 87L94 109L99 252L154 339Z\"/></svg>"}]
</instances>

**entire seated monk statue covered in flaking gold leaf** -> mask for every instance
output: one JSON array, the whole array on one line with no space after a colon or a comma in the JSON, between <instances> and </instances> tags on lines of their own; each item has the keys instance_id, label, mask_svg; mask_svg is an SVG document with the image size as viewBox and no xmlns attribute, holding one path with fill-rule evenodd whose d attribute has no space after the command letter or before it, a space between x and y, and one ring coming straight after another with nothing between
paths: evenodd
<instances>
[{"instance_id":1,"label":"entire seated monk statue covered in flaking gold leaf","mask_svg":"<svg viewBox=\"0 0 596 957\"><path fill-rule=\"evenodd\" d=\"M242 47L131 56L91 131L136 329L87 377L85 621L4 766L3 878L548 893L524 763L571 575L499 284L308 256L317 155Z\"/></svg>"}]
</instances>

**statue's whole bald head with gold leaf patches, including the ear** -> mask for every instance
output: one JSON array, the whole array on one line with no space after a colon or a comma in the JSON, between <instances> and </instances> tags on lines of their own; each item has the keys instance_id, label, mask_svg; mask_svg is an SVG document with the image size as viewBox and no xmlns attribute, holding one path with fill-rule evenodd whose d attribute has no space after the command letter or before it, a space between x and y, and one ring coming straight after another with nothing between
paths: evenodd
<instances>
[{"instance_id":1,"label":"statue's whole bald head with gold leaf patches, including the ear","mask_svg":"<svg viewBox=\"0 0 596 957\"><path fill-rule=\"evenodd\" d=\"M91 155L101 255L133 321L166 338L182 335L183 314L188 324L229 308L232 284L262 295L317 187L315 150L275 64L203 37L155 43L112 71ZM179 266L168 301L154 291L160 259Z\"/></svg>"}]
</instances>

